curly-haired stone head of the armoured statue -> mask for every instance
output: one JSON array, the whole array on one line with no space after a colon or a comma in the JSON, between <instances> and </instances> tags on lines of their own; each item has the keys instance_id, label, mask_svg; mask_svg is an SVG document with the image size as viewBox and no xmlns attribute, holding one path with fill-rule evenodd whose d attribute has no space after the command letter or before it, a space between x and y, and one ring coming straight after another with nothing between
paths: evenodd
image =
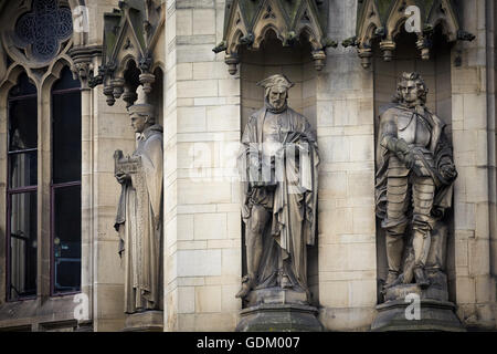
<instances>
[{"instance_id":1,"label":"curly-haired stone head of the armoured statue","mask_svg":"<svg viewBox=\"0 0 497 354\"><path fill-rule=\"evenodd\" d=\"M396 86L394 101L408 107L413 107L417 104L424 105L427 93L426 84L419 73L402 73Z\"/></svg>"}]
</instances>

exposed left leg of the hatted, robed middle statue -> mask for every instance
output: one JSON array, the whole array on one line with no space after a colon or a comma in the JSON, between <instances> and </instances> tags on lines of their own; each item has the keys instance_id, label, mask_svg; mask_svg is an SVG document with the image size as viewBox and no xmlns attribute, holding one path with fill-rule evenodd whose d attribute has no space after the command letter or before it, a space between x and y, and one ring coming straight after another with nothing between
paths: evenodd
<instances>
[{"instance_id":1,"label":"exposed left leg of the hatted, robed middle statue","mask_svg":"<svg viewBox=\"0 0 497 354\"><path fill-rule=\"evenodd\" d=\"M271 212L263 206L252 207L251 218L246 223L246 263L247 275L243 280L242 289L236 298L245 298L255 285L257 269L263 253L263 233Z\"/></svg>"}]
</instances>

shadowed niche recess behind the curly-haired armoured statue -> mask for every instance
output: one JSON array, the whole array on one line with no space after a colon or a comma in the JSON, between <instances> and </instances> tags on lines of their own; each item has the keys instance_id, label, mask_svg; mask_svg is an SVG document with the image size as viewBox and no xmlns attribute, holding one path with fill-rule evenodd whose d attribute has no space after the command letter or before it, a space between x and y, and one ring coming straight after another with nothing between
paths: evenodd
<instances>
[{"instance_id":1,"label":"shadowed niche recess behind the curly-haired armoured statue","mask_svg":"<svg viewBox=\"0 0 497 354\"><path fill-rule=\"evenodd\" d=\"M401 29L395 37L395 50L391 61L384 61L384 51L380 41L372 42L372 70L374 87L374 132L378 143L379 117L392 104L399 76L403 72L419 72L427 87L426 106L446 123L445 133L452 143L452 52L454 43L448 43L441 25L436 27L431 38L430 58L422 58L416 48L417 35L406 33ZM378 147L377 147L378 148ZM454 264L454 217L453 208L447 211L445 221L448 227L446 274L448 277L450 301L455 296L455 264ZM384 230L377 219L377 275L381 283L387 279L387 250ZM381 287L379 287L379 292ZM379 295L379 301L381 301Z\"/></svg>"}]
</instances>

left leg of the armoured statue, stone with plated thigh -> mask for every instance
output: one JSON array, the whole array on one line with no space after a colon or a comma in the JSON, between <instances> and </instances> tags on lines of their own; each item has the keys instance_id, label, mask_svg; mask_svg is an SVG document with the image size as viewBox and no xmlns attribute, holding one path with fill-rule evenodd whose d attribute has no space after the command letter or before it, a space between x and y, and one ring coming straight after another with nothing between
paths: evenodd
<instances>
[{"instance_id":1,"label":"left leg of the armoured statue, stone with plated thigh","mask_svg":"<svg viewBox=\"0 0 497 354\"><path fill-rule=\"evenodd\" d=\"M399 275L404 249L404 232L408 225L405 216L409 207L408 177L389 177L387 185L387 260L389 263L389 277L387 285L391 284Z\"/></svg>"}]
</instances>

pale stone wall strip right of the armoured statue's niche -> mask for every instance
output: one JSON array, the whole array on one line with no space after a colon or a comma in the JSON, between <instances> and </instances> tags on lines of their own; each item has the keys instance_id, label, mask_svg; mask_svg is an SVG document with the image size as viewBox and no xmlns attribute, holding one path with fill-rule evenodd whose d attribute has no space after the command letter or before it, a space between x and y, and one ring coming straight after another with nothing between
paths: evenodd
<instances>
[{"instance_id":1,"label":"pale stone wall strip right of the armoured statue's niche","mask_svg":"<svg viewBox=\"0 0 497 354\"><path fill-rule=\"evenodd\" d=\"M490 274L495 221L491 233L489 229L490 216L495 218L495 93L488 82L494 67L488 61L494 55L491 2L462 1L462 25L476 40L457 44L452 59L454 158L459 171L454 190L455 300L464 324L478 327L495 326L496 319Z\"/></svg>"}]
</instances>

